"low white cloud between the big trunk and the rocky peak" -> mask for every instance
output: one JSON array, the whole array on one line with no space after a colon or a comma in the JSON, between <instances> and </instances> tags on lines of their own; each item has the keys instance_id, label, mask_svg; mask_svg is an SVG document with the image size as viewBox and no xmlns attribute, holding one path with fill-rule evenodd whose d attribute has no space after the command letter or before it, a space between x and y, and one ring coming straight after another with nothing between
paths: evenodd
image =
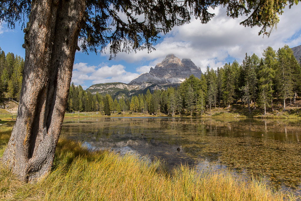
<instances>
[{"instance_id":1,"label":"low white cloud between the big trunk and the rocky peak","mask_svg":"<svg viewBox=\"0 0 301 201\"><path fill-rule=\"evenodd\" d=\"M125 68L126 67L121 64L109 67L102 63L96 67L89 66L88 63L76 63L73 65L71 82L75 85L83 85L87 80L91 80L93 84L108 82L129 83L139 75L137 73L127 72Z\"/></svg>"}]
</instances>

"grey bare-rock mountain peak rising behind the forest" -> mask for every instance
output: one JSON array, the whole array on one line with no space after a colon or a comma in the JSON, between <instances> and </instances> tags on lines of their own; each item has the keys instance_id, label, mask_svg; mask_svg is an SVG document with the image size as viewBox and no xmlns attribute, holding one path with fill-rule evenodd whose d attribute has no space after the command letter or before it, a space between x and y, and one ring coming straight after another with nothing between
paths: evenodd
<instances>
[{"instance_id":1,"label":"grey bare-rock mountain peak rising behind the forest","mask_svg":"<svg viewBox=\"0 0 301 201\"><path fill-rule=\"evenodd\" d=\"M132 80L129 85L141 85L142 83L169 84L181 83L186 77L191 75L200 77L202 71L190 60L182 61L173 54L167 55L155 68L151 68L149 73L144 73Z\"/></svg>"}]
</instances>

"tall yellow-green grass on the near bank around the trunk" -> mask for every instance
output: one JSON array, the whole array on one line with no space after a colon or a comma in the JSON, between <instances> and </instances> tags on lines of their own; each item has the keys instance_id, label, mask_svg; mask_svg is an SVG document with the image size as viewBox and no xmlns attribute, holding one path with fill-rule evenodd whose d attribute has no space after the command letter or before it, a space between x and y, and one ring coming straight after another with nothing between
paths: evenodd
<instances>
[{"instance_id":1,"label":"tall yellow-green grass on the near bank around the trunk","mask_svg":"<svg viewBox=\"0 0 301 201\"><path fill-rule=\"evenodd\" d=\"M0 143L7 143L11 122L1 125ZM296 200L273 193L264 182L245 182L230 173L199 173L180 166L171 173L161 162L133 155L89 152L81 144L60 139L50 174L28 184L0 166L0 200Z\"/></svg>"}]
</instances>

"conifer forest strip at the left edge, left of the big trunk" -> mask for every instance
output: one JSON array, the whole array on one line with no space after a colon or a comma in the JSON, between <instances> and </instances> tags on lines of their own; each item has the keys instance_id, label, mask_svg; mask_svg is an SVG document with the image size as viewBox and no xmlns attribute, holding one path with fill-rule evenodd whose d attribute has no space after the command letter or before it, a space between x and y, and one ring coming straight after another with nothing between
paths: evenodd
<instances>
[{"instance_id":1,"label":"conifer forest strip at the left edge, left of the big trunk","mask_svg":"<svg viewBox=\"0 0 301 201\"><path fill-rule=\"evenodd\" d=\"M24 60L14 53L5 52L0 47L0 100L6 93L8 98L19 101Z\"/></svg>"}]
</instances>

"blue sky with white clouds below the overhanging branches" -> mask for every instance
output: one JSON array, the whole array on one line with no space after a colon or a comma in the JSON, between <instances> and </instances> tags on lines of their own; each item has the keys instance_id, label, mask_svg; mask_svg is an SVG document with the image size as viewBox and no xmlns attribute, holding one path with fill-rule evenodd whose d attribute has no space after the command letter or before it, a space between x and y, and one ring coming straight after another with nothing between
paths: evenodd
<instances>
[{"instance_id":1,"label":"blue sky with white clouds below the overhanging branches","mask_svg":"<svg viewBox=\"0 0 301 201\"><path fill-rule=\"evenodd\" d=\"M138 75L148 72L151 67L161 62L167 54L173 53L180 59L190 58L204 72L207 65L216 69L225 63L236 59L241 62L247 52L262 56L263 49L272 46L274 49L301 45L301 5L284 9L279 16L277 30L271 36L258 36L259 27L243 27L239 22L245 17L232 19L226 16L225 9L218 7L213 13L216 16L208 24L200 20L191 20L190 24L174 27L168 34L154 44L156 51L147 53L121 52L109 61L108 54L91 52L86 55L76 52L73 66L72 82L87 88L92 84L106 82L128 83ZM24 58L24 33L21 27L14 30L7 27L5 22L0 26L0 47L7 52L13 52Z\"/></svg>"}]
</instances>

